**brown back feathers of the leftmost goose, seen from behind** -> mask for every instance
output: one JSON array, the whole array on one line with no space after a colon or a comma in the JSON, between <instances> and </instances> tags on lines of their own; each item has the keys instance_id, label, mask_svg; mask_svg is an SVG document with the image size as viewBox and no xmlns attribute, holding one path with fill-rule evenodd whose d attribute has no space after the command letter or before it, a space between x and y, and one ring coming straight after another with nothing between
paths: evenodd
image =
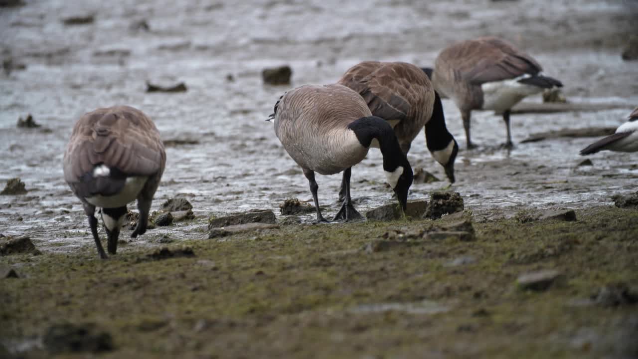
<instances>
[{"instance_id":1,"label":"brown back feathers of the leftmost goose, seen from behind","mask_svg":"<svg viewBox=\"0 0 638 359\"><path fill-rule=\"evenodd\" d=\"M143 112L120 106L97 109L73 127L64 153L64 179L73 183L103 163L126 176L151 176L166 162L159 132Z\"/></svg>"}]
</instances>

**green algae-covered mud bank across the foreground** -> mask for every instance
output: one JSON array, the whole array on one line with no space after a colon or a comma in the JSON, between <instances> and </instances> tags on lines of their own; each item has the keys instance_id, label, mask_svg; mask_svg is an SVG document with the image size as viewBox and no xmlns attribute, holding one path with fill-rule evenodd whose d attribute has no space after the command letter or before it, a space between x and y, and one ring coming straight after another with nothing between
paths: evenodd
<instances>
[{"instance_id":1,"label":"green algae-covered mud bank across the foreground","mask_svg":"<svg viewBox=\"0 0 638 359\"><path fill-rule=\"evenodd\" d=\"M638 210L577 218L475 222L475 241L417 238L374 253L362 248L384 233L450 219L282 226L180 241L194 257L158 261L140 260L149 248L108 261L93 250L3 257L20 278L0 279L0 343L15 350L70 322L110 333L103 356L114 358L632 357L636 307L590 297L616 283L636 291ZM459 257L475 261L449 265ZM519 290L517 277L536 270L565 281ZM423 305L436 310L414 310Z\"/></svg>"}]
</instances>

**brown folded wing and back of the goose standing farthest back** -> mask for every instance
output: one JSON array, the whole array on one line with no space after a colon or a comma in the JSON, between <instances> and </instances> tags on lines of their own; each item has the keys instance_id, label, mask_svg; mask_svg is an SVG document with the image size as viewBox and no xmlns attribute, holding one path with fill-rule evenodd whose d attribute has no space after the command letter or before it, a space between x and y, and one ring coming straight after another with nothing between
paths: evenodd
<instances>
[{"instance_id":1,"label":"brown folded wing and back of the goose standing farthest back","mask_svg":"<svg viewBox=\"0 0 638 359\"><path fill-rule=\"evenodd\" d=\"M477 85L542 71L529 54L493 37L457 43L443 50L440 57L453 66L456 77Z\"/></svg>"}]
</instances>

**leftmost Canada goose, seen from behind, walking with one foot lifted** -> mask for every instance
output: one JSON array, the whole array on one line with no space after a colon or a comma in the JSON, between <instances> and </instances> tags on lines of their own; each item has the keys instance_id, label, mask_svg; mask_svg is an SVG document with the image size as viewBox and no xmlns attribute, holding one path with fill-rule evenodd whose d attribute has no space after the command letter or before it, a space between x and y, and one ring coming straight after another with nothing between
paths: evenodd
<instances>
[{"instance_id":1,"label":"leftmost Canada goose, seen from behind, walking with one foot lifted","mask_svg":"<svg viewBox=\"0 0 638 359\"><path fill-rule=\"evenodd\" d=\"M164 172L166 153L159 132L143 112L128 106L88 112L71 133L64 152L64 180L82 201L102 259L95 208L107 231L108 252L115 254L126 204L137 198L140 218L131 237L146 232L153 195Z\"/></svg>"}]
</instances>

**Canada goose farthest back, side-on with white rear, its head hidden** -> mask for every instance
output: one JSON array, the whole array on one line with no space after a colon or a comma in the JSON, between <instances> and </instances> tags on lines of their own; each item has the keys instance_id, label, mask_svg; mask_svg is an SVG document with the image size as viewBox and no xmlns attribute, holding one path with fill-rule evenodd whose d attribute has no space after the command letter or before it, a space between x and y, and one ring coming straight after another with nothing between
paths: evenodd
<instances>
[{"instance_id":1,"label":"Canada goose farthest back, side-on with white rear, its head hidden","mask_svg":"<svg viewBox=\"0 0 638 359\"><path fill-rule=\"evenodd\" d=\"M436 57L434 69L423 68L431 76L436 91L452 98L461 110L468 148L470 112L493 110L502 114L507 126L507 142L512 146L510 109L525 96L546 88L562 87L559 80L542 74L542 67L529 54L494 37L455 43Z\"/></svg>"}]
</instances>

